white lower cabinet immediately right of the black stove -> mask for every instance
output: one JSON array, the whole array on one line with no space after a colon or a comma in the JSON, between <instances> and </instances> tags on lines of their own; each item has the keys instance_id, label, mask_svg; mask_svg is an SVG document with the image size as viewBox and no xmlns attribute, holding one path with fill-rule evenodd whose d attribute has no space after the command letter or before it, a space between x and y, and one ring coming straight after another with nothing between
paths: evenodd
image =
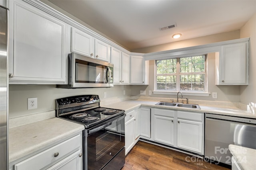
<instances>
[{"instance_id":1,"label":"white lower cabinet immediately right of the black stove","mask_svg":"<svg viewBox=\"0 0 256 170\"><path fill-rule=\"evenodd\" d=\"M138 142L140 138L140 109L126 113L125 117L125 154Z\"/></svg>"}]
</instances>

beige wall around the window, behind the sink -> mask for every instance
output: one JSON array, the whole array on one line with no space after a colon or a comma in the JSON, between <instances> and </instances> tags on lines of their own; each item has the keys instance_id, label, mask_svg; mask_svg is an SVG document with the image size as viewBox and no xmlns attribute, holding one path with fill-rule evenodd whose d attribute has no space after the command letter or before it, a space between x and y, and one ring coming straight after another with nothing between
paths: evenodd
<instances>
[{"instance_id":1,"label":"beige wall around the window, behind the sink","mask_svg":"<svg viewBox=\"0 0 256 170\"><path fill-rule=\"evenodd\" d=\"M194 100L212 100L212 101L228 101L240 102L240 86L216 86L215 85L215 53L208 54L208 92L217 92L218 98L213 99L212 95L209 97L202 96L185 96L183 98ZM140 95L140 90L146 90L146 95ZM148 86L131 86L132 96L149 96L148 90L154 91L154 61L150 61L149 66L149 85ZM176 95L160 95L154 94L149 97L157 98L177 98Z\"/></svg>"}]
</instances>

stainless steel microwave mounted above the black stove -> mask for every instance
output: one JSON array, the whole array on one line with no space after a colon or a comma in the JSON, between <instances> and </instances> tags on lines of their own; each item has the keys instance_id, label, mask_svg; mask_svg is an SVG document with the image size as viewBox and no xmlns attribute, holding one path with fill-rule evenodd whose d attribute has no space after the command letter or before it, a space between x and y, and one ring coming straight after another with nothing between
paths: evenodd
<instances>
[{"instance_id":1,"label":"stainless steel microwave mounted above the black stove","mask_svg":"<svg viewBox=\"0 0 256 170\"><path fill-rule=\"evenodd\" d=\"M68 84L57 88L113 87L114 64L77 53L68 54Z\"/></svg>"}]
</instances>

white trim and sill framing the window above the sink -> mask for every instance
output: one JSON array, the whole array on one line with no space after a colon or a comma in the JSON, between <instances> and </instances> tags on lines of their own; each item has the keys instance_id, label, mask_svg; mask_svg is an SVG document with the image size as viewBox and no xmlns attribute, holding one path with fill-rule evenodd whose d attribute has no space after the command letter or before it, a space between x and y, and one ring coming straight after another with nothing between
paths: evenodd
<instances>
[{"instance_id":1,"label":"white trim and sill framing the window above the sink","mask_svg":"<svg viewBox=\"0 0 256 170\"><path fill-rule=\"evenodd\" d=\"M186 96L210 96L211 93L208 92L208 54L201 54L201 55L205 55L205 91L204 92L187 92L187 91L182 91L180 90L180 92L182 92L182 94L186 95ZM194 56L194 55L190 55L190 56ZM190 57L187 56L187 57ZM179 58L179 57L175 57L175 58ZM174 59L174 58L172 58ZM178 69L178 68L177 68ZM153 94L166 94L166 95L176 95L179 91L165 91L165 90L156 90L156 60L154 62L154 91Z\"/></svg>"}]
</instances>

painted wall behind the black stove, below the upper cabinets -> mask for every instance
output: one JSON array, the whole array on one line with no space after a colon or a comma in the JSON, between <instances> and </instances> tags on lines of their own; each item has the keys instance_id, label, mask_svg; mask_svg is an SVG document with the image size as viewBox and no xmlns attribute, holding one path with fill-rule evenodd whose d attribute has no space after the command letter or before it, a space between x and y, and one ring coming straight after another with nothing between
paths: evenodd
<instances>
[{"instance_id":1,"label":"painted wall behind the black stove, below the upper cabinets","mask_svg":"<svg viewBox=\"0 0 256 170\"><path fill-rule=\"evenodd\" d=\"M9 85L9 117L18 117L55 109L55 99L82 94L97 94L100 100L113 100L130 96L130 85L116 85L112 88L62 89L56 85ZM125 95L124 95L125 90ZM106 92L106 98L104 98ZM37 98L37 109L27 109L28 98Z\"/></svg>"}]
</instances>

